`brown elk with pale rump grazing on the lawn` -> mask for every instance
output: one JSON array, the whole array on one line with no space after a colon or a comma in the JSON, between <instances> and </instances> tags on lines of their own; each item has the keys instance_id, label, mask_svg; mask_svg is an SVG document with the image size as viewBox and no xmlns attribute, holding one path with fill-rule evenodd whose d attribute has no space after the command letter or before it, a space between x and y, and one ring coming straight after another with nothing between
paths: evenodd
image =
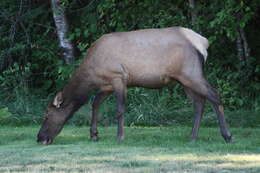
<instances>
[{"instance_id":1,"label":"brown elk with pale rump grazing on the lawn","mask_svg":"<svg viewBox=\"0 0 260 173\"><path fill-rule=\"evenodd\" d=\"M128 87L159 89L180 83L194 103L195 119L191 140L198 135L205 100L216 112L220 132L232 140L218 93L203 77L208 41L183 27L143 29L105 34L92 44L87 56L62 91L48 105L38 142L51 144L65 122L89 98L99 93L92 104L90 138L98 140L97 119L100 104L115 93L117 139L124 139L124 112Z\"/></svg>"}]
</instances>

